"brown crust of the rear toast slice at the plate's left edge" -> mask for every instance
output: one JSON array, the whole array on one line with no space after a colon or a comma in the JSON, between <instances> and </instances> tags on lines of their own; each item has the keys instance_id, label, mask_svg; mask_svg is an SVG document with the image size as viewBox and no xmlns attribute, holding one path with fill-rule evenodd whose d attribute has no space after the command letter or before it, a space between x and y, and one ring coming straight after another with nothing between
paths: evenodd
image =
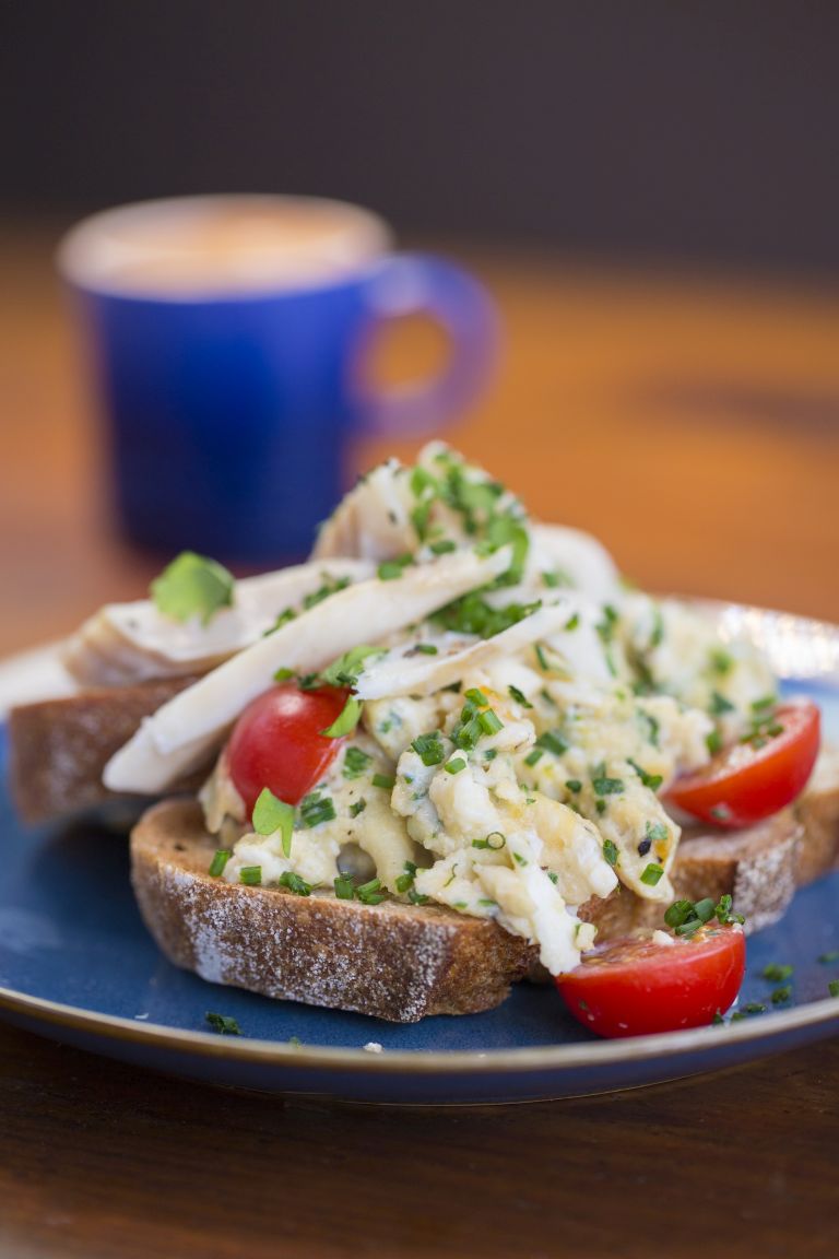
<instances>
[{"instance_id":1,"label":"brown crust of the rear toast slice at the plate's left edge","mask_svg":"<svg viewBox=\"0 0 839 1259\"><path fill-rule=\"evenodd\" d=\"M103 686L13 709L9 781L23 820L43 822L114 798L102 783L107 762L145 716L194 681L189 676ZM176 789L197 787L204 777L192 774Z\"/></svg>"}]
</instances>

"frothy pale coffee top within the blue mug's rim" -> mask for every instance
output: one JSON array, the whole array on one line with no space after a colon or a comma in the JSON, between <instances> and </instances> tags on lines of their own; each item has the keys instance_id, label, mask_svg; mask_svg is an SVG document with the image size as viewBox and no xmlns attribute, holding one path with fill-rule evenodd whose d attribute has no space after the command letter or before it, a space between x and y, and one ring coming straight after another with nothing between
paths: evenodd
<instances>
[{"instance_id":1,"label":"frothy pale coffee top within the blue mug's rim","mask_svg":"<svg viewBox=\"0 0 839 1259\"><path fill-rule=\"evenodd\" d=\"M82 288L189 300L326 283L389 247L385 224L355 205L206 196L97 214L64 238L58 262Z\"/></svg>"}]
</instances>

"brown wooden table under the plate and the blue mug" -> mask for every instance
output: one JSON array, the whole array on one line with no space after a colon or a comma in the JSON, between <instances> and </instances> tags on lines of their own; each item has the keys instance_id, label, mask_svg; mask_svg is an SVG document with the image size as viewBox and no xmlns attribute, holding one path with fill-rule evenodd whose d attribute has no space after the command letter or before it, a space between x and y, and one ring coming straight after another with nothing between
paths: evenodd
<instances>
[{"instance_id":1,"label":"brown wooden table under the plate and the blue mug","mask_svg":"<svg viewBox=\"0 0 839 1259\"><path fill-rule=\"evenodd\" d=\"M0 234L4 653L158 567L109 524L54 238ZM460 256L507 325L496 389L453 434L468 454L644 585L839 619L839 293ZM387 370L435 351L405 329ZM838 1090L828 1041L572 1102L316 1107L0 1026L0 1254L834 1255Z\"/></svg>"}]
</instances>

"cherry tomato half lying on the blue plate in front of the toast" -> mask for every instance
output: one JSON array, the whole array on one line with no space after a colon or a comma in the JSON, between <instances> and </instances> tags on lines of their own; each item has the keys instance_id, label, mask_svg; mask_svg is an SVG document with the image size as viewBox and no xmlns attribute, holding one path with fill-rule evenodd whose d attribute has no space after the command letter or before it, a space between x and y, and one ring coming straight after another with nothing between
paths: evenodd
<instances>
[{"instance_id":1,"label":"cherry tomato half lying on the blue plate in front of the toast","mask_svg":"<svg viewBox=\"0 0 839 1259\"><path fill-rule=\"evenodd\" d=\"M732 1005L746 971L740 927L713 924L673 944L628 937L586 953L556 986L599 1036L645 1036L702 1027Z\"/></svg>"}]
</instances>

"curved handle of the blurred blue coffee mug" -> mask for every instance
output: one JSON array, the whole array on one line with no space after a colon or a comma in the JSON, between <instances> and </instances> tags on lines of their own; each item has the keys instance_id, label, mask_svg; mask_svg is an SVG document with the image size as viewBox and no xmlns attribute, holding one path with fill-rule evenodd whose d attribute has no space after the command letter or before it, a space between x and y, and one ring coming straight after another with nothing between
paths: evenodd
<instances>
[{"instance_id":1,"label":"curved handle of the blurred blue coffee mug","mask_svg":"<svg viewBox=\"0 0 839 1259\"><path fill-rule=\"evenodd\" d=\"M496 306L473 276L431 254L397 253L376 268L366 292L376 325L426 315L448 334L449 361L430 380L367 393L360 428L369 437L419 437L454 419L487 384L499 345Z\"/></svg>"}]
</instances>

